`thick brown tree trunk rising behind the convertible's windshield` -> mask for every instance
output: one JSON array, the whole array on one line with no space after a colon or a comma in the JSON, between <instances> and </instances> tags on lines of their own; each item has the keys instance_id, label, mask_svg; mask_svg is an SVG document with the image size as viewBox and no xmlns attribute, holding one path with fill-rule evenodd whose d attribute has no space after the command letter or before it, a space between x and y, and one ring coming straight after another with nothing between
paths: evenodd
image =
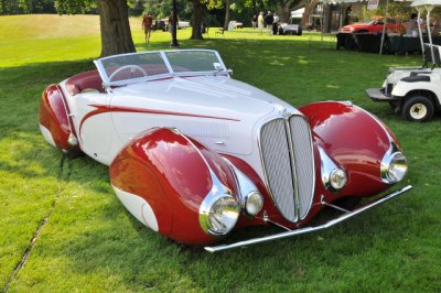
<instances>
[{"instance_id":1,"label":"thick brown tree trunk rising behind the convertible's windshield","mask_svg":"<svg viewBox=\"0 0 441 293\"><path fill-rule=\"evenodd\" d=\"M98 0L101 57L136 52L126 0Z\"/></svg>"}]
</instances>

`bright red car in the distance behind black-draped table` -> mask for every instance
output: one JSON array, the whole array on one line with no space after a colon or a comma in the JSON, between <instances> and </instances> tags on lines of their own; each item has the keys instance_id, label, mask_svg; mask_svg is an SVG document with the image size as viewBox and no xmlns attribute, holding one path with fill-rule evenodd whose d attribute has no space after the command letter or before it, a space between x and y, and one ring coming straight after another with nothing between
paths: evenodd
<instances>
[{"instance_id":1,"label":"bright red car in the distance behind black-draped table","mask_svg":"<svg viewBox=\"0 0 441 293\"><path fill-rule=\"evenodd\" d=\"M383 33L384 17L374 17L363 22L356 22L342 28L343 33ZM386 19L388 33L405 33L402 21L397 18Z\"/></svg>"}]
</instances>

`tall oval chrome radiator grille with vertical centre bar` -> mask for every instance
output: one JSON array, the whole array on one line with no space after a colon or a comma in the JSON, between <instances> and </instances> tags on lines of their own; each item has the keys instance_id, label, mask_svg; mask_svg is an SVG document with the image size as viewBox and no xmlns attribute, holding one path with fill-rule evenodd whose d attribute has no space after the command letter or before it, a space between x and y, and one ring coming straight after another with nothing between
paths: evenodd
<instances>
[{"instance_id":1,"label":"tall oval chrome radiator grille with vertical centre bar","mask_svg":"<svg viewBox=\"0 0 441 293\"><path fill-rule=\"evenodd\" d=\"M275 119L260 131L265 175L272 199L290 221L304 218L314 194L311 131L301 116Z\"/></svg>"}]
</instances>

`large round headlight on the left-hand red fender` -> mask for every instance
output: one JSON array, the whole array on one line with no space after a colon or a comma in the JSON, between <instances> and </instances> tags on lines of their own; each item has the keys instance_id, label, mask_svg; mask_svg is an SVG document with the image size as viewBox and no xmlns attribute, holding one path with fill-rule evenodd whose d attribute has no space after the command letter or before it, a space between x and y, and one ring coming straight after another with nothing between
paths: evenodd
<instances>
[{"instance_id":1,"label":"large round headlight on the left-hand red fender","mask_svg":"<svg viewBox=\"0 0 441 293\"><path fill-rule=\"evenodd\" d=\"M239 204L229 194L208 197L201 206L201 227L205 232L215 236L226 235L236 225L239 211Z\"/></svg>"}]
</instances>

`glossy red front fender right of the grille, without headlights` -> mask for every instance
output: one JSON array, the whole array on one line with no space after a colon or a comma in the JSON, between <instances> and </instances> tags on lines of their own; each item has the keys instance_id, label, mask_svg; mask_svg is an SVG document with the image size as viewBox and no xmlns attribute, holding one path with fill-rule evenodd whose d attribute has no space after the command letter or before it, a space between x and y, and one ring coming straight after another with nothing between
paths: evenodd
<instances>
[{"instance_id":1,"label":"glossy red front fender right of the grille, without headlights","mask_svg":"<svg viewBox=\"0 0 441 293\"><path fill-rule=\"evenodd\" d=\"M389 138L396 139L378 119L351 102L315 102L299 110L306 116L316 145L347 172L340 196L370 196L389 187L381 181L380 163Z\"/></svg>"}]
</instances>

